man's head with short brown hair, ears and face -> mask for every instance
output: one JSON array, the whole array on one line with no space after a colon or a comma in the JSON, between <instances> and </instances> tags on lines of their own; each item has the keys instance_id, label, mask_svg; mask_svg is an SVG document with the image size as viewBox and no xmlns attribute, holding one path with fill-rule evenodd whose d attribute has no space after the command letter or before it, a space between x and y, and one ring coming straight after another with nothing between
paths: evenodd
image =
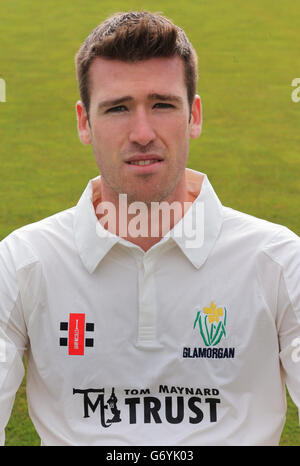
<instances>
[{"instance_id":1,"label":"man's head with short brown hair, ears and face","mask_svg":"<svg viewBox=\"0 0 300 466\"><path fill-rule=\"evenodd\" d=\"M190 138L201 132L196 54L183 31L151 13L118 14L76 59L78 131L93 146L102 198L182 200Z\"/></svg>"}]
</instances>

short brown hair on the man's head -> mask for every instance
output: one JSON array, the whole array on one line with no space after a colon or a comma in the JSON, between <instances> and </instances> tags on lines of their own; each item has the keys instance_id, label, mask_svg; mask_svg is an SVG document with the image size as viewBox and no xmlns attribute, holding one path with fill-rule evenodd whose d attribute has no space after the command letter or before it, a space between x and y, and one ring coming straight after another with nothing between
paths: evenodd
<instances>
[{"instance_id":1,"label":"short brown hair on the man's head","mask_svg":"<svg viewBox=\"0 0 300 466\"><path fill-rule=\"evenodd\" d=\"M81 100L89 115L88 71L95 57L137 62L154 57L178 55L184 62L190 108L198 80L197 54L185 32L158 13L131 11L116 13L99 24L75 56Z\"/></svg>"}]
</instances>

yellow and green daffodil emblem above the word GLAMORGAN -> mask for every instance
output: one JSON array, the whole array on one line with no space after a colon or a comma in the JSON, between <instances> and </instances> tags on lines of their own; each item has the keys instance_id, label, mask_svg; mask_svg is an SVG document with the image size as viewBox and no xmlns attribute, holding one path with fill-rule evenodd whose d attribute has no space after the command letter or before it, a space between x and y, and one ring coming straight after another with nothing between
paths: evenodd
<instances>
[{"instance_id":1,"label":"yellow and green daffodil emblem above the word GLAMORGAN","mask_svg":"<svg viewBox=\"0 0 300 466\"><path fill-rule=\"evenodd\" d=\"M199 325L206 346L216 346L221 338L226 337L226 319L226 307L217 307L213 301L209 307L197 312L194 328Z\"/></svg>"}]
</instances>

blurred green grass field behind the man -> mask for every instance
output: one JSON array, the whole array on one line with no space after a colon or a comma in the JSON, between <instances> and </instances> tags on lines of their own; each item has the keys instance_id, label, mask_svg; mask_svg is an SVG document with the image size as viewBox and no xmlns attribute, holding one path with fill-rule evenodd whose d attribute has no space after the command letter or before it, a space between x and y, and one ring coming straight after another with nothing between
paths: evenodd
<instances>
[{"instance_id":1,"label":"blurred green grass field behind the man","mask_svg":"<svg viewBox=\"0 0 300 466\"><path fill-rule=\"evenodd\" d=\"M98 174L76 132L74 55L106 16L160 11L183 27L199 54L203 133L188 166L208 174L224 205L300 235L300 3L0 0L0 239L75 205ZM300 93L299 93L300 95ZM38 445L22 384L7 445ZM300 446L288 399L281 445Z\"/></svg>"}]
</instances>

